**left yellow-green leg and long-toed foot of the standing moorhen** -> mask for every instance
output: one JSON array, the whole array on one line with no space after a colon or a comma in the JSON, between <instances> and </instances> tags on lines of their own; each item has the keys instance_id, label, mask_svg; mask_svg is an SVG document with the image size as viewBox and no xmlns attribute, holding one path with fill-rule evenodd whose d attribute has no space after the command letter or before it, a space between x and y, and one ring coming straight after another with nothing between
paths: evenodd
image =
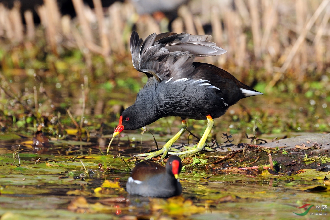
<instances>
[{"instance_id":1,"label":"left yellow-green leg and long-toed foot of the standing moorhen","mask_svg":"<svg viewBox=\"0 0 330 220\"><path fill-rule=\"evenodd\" d=\"M182 125L181 125L181 129L179 130L179 132L174 135L174 137L172 137L164 146L162 149L155 151L155 152L151 152L151 153L145 153L145 154L136 154L133 157L145 157L145 160L149 160L150 158L156 157L158 155L162 155L161 160L164 159L164 157L167 155L167 153L169 154L173 154L173 153L179 153L180 150L173 148L172 145L182 136L182 134L187 130L187 119L183 119L182 118Z\"/></svg>"}]
</instances>

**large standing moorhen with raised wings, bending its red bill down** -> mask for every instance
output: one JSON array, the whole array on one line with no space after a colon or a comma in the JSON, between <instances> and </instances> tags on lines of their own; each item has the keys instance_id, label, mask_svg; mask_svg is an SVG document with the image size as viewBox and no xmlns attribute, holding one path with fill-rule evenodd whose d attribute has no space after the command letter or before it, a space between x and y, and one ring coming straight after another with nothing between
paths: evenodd
<instances>
[{"instance_id":1,"label":"large standing moorhen with raised wings, bending its red bill down","mask_svg":"<svg viewBox=\"0 0 330 220\"><path fill-rule=\"evenodd\" d=\"M139 156L148 156L145 158L148 160L163 153L163 159L167 153L182 155L204 149L213 151L205 147L214 125L213 119L222 116L229 106L241 98L263 93L214 65L193 62L195 56L213 56L226 52L210 42L211 38L206 35L167 32L158 35L153 33L143 41L133 31L130 40L133 65L136 70L148 76L148 81L137 94L135 103L121 113L113 137L122 130L134 130L163 117L179 116L182 119L180 131L162 149ZM187 118L208 120L208 125L197 148L180 152L172 148L172 145L185 132Z\"/></svg>"}]
</instances>

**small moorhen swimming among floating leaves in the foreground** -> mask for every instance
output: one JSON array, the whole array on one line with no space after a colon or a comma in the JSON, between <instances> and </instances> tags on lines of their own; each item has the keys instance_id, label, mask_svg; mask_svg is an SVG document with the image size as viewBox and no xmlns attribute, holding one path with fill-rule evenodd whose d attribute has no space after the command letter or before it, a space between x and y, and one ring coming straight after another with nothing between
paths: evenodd
<instances>
[{"instance_id":1,"label":"small moorhen swimming among floating leaves in the foreground","mask_svg":"<svg viewBox=\"0 0 330 220\"><path fill-rule=\"evenodd\" d=\"M181 171L181 159L171 156L166 166L141 161L132 170L126 183L126 190L131 195L150 197L172 197L182 192L178 175Z\"/></svg>"}]
</instances>

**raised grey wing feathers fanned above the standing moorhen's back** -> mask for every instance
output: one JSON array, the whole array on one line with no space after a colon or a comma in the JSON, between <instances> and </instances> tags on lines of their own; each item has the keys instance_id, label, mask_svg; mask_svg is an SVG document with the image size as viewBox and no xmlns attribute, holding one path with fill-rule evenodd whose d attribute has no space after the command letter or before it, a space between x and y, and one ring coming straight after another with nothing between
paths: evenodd
<instances>
[{"instance_id":1,"label":"raised grey wing feathers fanned above the standing moorhen's back","mask_svg":"<svg viewBox=\"0 0 330 220\"><path fill-rule=\"evenodd\" d=\"M193 70L195 56L214 56L226 51L210 42L209 35L155 33L143 42L133 31L130 48L134 68L159 82L184 78Z\"/></svg>"}]
</instances>

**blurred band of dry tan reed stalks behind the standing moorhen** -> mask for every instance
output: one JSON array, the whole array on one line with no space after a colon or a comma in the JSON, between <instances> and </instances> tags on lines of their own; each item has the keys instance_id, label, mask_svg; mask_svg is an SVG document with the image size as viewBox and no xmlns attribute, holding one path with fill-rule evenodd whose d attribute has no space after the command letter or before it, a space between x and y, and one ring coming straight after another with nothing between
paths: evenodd
<instances>
[{"instance_id":1,"label":"blurred band of dry tan reed stalks behind the standing moorhen","mask_svg":"<svg viewBox=\"0 0 330 220\"><path fill-rule=\"evenodd\" d=\"M103 7L101 0L92 0L93 9L82 0L72 0L77 16L71 18L61 15L56 0L44 0L36 6L40 24L34 23L31 10L21 16L16 1L11 9L0 4L0 46L13 52L17 47L33 47L45 37L48 53L58 57L63 50L79 49L87 66L92 65L93 55L101 55L111 67L114 57L129 56L133 29L143 39L169 30L209 34L228 52L207 57L208 62L240 73L242 81L251 71L261 71L258 78L266 82L267 89L284 79L299 84L330 74L329 1L181 1L175 9L177 17L169 20L161 13L142 15L129 1ZM14 65L17 59L13 57Z\"/></svg>"}]
</instances>

